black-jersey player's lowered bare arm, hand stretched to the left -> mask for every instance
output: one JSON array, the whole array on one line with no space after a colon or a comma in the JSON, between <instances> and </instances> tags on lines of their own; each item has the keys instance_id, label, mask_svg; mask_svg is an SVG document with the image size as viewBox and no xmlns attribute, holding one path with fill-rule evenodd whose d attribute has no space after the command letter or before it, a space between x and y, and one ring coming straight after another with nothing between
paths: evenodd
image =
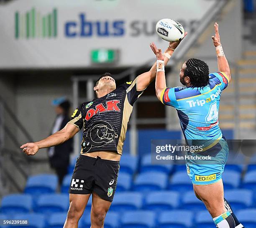
<instances>
[{"instance_id":1,"label":"black-jersey player's lowered bare arm, hand stretched to the left","mask_svg":"<svg viewBox=\"0 0 256 228\"><path fill-rule=\"evenodd\" d=\"M23 144L20 148L26 155L35 155L41 148L47 148L59 145L77 134L78 128L73 124L66 124L66 126L60 131L50 135L49 137L38 141L38 142L28 142Z\"/></svg>"}]
</instances>

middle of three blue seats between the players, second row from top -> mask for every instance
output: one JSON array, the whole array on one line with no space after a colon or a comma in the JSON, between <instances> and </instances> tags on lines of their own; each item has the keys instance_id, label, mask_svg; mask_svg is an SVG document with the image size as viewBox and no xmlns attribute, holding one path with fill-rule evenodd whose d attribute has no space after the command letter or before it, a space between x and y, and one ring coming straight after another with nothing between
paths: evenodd
<instances>
[{"instance_id":1,"label":"middle of three blue seats between the players, second row from top","mask_svg":"<svg viewBox=\"0 0 256 228\"><path fill-rule=\"evenodd\" d=\"M135 191L154 191L166 189L168 176L163 172L143 172L138 174L134 183Z\"/></svg>"}]
</instances>

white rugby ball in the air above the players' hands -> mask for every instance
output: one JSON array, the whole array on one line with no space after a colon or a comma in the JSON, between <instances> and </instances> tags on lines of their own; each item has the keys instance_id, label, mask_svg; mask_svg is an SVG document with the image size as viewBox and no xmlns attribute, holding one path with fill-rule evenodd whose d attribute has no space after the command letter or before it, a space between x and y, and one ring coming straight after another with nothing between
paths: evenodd
<instances>
[{"instance_id":1,"label":"white rugby ball in the air above the players' hands","mask_svg":"<svg viewBox=\"0 0 256 228\"><path fill-rule=\"evenodd\" d=\"M165 18L156 23L156 33L165 41L175 42L184 38L185 31L176 20Z\"/></svg>"}]
</instances>

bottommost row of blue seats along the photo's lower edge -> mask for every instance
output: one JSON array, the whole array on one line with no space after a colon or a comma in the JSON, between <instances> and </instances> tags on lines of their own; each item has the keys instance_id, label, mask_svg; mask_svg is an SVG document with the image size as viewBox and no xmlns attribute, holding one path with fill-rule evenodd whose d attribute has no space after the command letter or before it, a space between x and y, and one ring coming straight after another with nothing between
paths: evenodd
<instances>
[{"instance_id":1,"label":"bottommost row of blue seats along the photo's lower edge","mask_svg":"<svg viewBox=\"0 0 256 228\"><path fill-rule=\"evenodd\" d=\"M214 228L210 214L207 211L192 213L190 210L164 210L156 213L150 210L126 211L122 215L110 211L105 218L105 228ZM26 228L62 228L67 213L53 213L45 216L40 213L15 215L16 220L28 220ZM239 210L237 216L241 223L249 228L256 228L256 209ZM184 219L186 218L186 219ZM0 214L0 219L8 216ZM5 226L11 228L12 226ZM16 225L24 228L24 225ZM90 213L86 213L79 221L79 228L90 228Z\"/></svg>"}]
</instances>

